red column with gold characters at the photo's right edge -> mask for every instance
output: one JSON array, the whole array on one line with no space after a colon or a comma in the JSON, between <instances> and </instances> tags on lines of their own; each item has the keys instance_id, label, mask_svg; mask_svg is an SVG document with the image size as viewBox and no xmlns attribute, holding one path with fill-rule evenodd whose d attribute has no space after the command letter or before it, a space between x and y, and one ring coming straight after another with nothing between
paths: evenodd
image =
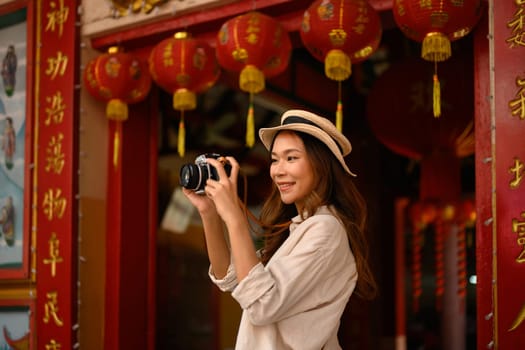
<instances>
[{"instance_id":1,"label":"red column with gold characters at the photo's right edge","mask_svg":"<svg viewBox=\"0 0 525 350\"><path fill-rule=\"evenodd\" d=\"M478 349L525 349L525 1L476 38Z\"/></svg>"}]
</instances>

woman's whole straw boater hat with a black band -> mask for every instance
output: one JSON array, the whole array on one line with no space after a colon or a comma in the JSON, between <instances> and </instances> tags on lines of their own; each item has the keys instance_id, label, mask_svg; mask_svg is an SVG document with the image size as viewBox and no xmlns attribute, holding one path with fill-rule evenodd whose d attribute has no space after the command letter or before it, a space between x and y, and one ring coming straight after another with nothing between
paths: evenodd
<instances>
[{"instance_id":1,"label":"woman's whole straw boater hat with a black band","mask_svg":"<svg viewBox=\"0 0 525 350\"><path fill-rule=\"evenodd\" d=\"M356 176L348 169L344 160L352 150L352 145L330 120L300 109L286 111L281 117L281 125L259 129L259 137L267 150L270 150L273 139L281 130L304 132L322 141L332 151L343 169L350 175Z\"/></svg>"}]
</instances>

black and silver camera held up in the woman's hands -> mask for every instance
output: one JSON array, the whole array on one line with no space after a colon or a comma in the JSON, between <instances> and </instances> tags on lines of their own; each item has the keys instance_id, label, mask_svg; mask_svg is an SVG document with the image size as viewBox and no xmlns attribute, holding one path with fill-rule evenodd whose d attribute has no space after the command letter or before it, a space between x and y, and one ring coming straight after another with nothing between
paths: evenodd
<instances>
[{"instance_id":1,"label":"black and silver camera held up in the woman's hands","mask_svg":"<svg viewBox=\"0 0 525 350\"><path fill-rule=\"evenodd\" d=\"M195 191L196 193L204 193L204 186L206 180L219 180L217 169L211 166L207 158L221 159L222 156L217 153L205 153L195 158L195 164L184 164L180 168L180 184L182 187ZM224 160L224 170L230 176L231 165Z\"/></svg>"}]
</instances>

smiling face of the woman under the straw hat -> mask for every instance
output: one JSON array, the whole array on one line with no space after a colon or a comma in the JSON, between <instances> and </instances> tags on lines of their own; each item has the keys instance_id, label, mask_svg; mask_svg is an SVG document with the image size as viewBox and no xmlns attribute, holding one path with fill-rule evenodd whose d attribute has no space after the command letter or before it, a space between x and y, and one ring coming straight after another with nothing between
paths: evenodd
<instances>
[{"instance_id":1,"label":"smiling face of the woman under the straw hat","mask_svg":"<svg viewBox=\"0 0 525 350\"><path fill-rule=\"evenodd\" d=\"M304 199L315 188L312 164L301 138L290 131L281 131L272 148L270 176L285 204L295 203L302 212Z\"/></svg>"}]
</instances>

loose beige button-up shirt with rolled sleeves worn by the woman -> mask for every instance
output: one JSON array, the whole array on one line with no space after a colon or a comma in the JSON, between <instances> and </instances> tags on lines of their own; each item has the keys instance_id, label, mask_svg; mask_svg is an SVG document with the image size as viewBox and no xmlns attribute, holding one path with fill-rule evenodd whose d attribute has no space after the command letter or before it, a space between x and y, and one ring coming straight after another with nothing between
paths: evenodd
<instances>
[{"instance_id":1,"label":"loose beige button-up shirt with rolled sleeves worn by the woman","mask_svg":"<svg viewBox=\"0 0 525 350\"><path fill-rule=\"evenodd\" d=\"M357 271L346 230L328 210L292 220L290 236L266 266L239 284L230 265L210 278L243 309L236 350L341 349L337 331Z\"/></svg>"}]
</instances>

